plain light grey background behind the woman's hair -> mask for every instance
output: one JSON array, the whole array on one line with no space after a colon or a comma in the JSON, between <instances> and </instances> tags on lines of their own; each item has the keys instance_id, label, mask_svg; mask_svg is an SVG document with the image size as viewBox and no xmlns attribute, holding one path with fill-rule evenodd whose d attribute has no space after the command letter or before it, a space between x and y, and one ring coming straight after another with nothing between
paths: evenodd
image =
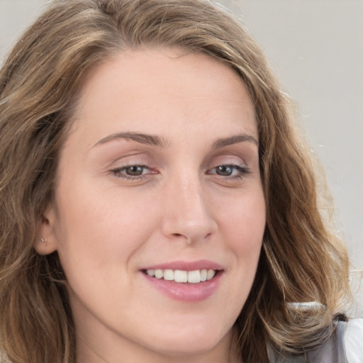
<instances>
[{"instance_id":1,"label":"plain light grey background behind the woman's hair","mask_svg":"<svg viewBox=\"0 0 363 363\"><path fill-rule=\"evenodd\" d=\"M0 0L0 63L47 2ZM362 279L363 0L218 2L250 28L299 104L299 123L325 168L353 273ZM362 280L360 286L363 306Z\"/></svg>"}]
</instances>

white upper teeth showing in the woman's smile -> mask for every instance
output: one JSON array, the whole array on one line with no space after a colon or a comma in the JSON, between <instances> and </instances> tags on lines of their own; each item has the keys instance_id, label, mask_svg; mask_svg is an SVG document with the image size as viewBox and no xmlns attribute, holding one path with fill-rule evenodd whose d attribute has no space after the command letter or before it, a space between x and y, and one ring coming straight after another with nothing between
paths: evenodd
<instances>
[{"instance_id":1,"label":"white upper teeth showing in the woman's smile","mask_svg":"<svg viewBox=\"0 0 363 363\"><path fill-rule=\"evenodd\" d=\"M198 283L213 279L216 271L213 269L196 269L194 271L183 271L181 269L147 269L146 273L151 277L157 279L176 281L176 282L191 282Z\"/></svg>"}]
</instances>

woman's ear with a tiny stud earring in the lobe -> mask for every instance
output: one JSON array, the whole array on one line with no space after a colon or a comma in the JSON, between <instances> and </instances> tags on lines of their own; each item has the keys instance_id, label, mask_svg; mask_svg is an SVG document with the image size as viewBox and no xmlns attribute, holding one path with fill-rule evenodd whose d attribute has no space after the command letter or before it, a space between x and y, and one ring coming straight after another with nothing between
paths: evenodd
<instances>
[{"instance_id":1,"label":"woman's ear with a tiny stud earring in the lobe","mask_svg":"<svg viewBox=\"0 0 363 363\"><path fill-rule=\"evenodd\" d=\"M54 223L55 211L53 207L49 207L40 220L37 239L34 242L35 251L39 255L50 255L57 250Z\"/></svg>"}]
</instances>

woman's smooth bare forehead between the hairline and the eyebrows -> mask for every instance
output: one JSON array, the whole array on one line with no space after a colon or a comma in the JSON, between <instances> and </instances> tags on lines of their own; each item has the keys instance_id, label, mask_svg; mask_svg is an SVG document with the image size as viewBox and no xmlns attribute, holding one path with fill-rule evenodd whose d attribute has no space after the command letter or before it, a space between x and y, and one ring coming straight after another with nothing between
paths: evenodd
<instances>
[{"instance_id":1,"label":"woman's smooth bare forehead between the hairline and the eyebrows","mask_svg":"<svg viewBox=\"0 0 363 363\"><path fill-rule=\"evenodd\" d=\"M258 138L255 107L233 69L200 52L145 48L118 52L91 69L75 123L86 121L98 136L118 132L115 128L125 123L133 131L153 133L155 123L197 127L202 120L211 128L232 120L236 132L242 126Z\"/></svg>"}]
</instances>

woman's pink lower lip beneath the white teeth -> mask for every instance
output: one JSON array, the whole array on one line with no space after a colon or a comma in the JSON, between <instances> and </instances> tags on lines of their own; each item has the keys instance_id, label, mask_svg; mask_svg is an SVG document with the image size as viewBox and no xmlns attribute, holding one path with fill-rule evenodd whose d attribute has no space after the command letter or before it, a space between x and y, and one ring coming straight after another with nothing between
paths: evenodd
<instances>
[{"instance_id":1,"label":"woman's pink lower lip beneath the white teeth","mask_svg":"<svg viewBox=\"0 0 363 363\"><path fill-rule=\"evenodd\" d=\"M145 279L162 294L169 296L169 298L173 298L174 300L187 303L198 303L199 301L206 300L208 297L212 296L214 291L218 288L220 277L223 274L222 271L218 271L213 279L192 284L156 279L144 272L141 273L144 275Z\"/></svg>"}]
</instances>

